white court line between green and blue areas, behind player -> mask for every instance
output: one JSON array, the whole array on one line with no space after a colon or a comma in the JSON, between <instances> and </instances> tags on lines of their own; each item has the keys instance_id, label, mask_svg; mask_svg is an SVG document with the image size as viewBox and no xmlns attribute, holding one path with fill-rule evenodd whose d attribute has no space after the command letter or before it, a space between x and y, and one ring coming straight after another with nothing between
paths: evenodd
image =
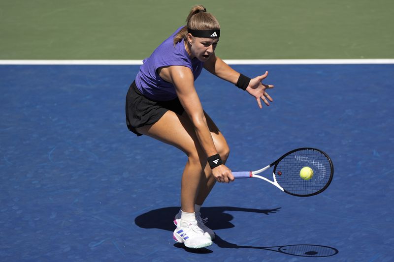
<instances>
[{"instance_id":1,"label":"white court line between green and blue areas, behind player","mask_svg":"<svg viewBox=\"0 0 394 262\"><path fill-rule=\"evenodd\" d=\"M228 64L394 64L394 59L224 59ZM140 65L142 60L0 60L1 65Z\"/></svg>"}]
</instances>

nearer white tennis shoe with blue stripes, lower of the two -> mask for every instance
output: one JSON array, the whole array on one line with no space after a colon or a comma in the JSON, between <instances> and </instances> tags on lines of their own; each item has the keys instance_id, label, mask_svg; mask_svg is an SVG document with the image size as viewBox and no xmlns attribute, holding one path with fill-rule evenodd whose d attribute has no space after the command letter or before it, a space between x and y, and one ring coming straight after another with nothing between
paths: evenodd
<instances>
[{"instance_id":1,"label":"nearer white tennis shoe with blue stripes, lower of the two","mask_svg":"<svg viewBox=\"0 0 394 262\"><path fill-rule=\"evenodd\" d=\"M179 243L184 243L189 248L203 248L212 245L207 233L204 233L198 226L197 220L191 222L178 222L172 238Z\"/></svg>"}]
</instances>

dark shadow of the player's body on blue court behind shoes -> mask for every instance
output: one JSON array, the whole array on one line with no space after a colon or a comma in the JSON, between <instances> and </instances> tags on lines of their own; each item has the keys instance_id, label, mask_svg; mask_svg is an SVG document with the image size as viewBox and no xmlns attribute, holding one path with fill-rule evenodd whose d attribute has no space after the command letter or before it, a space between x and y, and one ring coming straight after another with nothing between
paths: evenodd
<instances>
[{"instance_id":1,"label":"dark shadow of the player's body on blue court behind shoes","mask_svg":"<svg viewBox=\"0 0 394 262\"><path fill-rule=\"evenodd\" d=\"M135 225L144 229L163 229L167 231L174 231L175 226L173 224L173 220L179 209L180 207L177 206L154 209L137 216L134 222ZM234 227L234 225L230 223L230 221L233 219L233 216L226 213L225 211L242 211L268 215L278 212L279 209L280 207L275 209L254 209L233 206L215 206L202 207L201 213L203 213L203 216L214 217L215 219L209 220L207 225L212 230L219 230Z\"/></svg>"}]
</instances>

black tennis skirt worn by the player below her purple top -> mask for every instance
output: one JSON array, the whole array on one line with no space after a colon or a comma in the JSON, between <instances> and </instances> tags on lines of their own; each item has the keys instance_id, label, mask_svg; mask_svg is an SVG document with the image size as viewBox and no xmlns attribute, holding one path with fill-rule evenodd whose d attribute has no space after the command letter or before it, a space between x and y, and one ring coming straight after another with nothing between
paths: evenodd
<instances>
[{"instance_id":1,"label":"black tennis skirt worn by the player below her purple top","mask_svg":"<svg viewBox=\"0 0 394 262\"><path fill-rule=\"evenodd\" d=\"M169 101L148 99L138 90L135 81L132 82L126 96L126 124L131 132L142 136L135 128L156 123L168 110L178 115L185 111L178 98Z\"/></svg>"}]
</instances>

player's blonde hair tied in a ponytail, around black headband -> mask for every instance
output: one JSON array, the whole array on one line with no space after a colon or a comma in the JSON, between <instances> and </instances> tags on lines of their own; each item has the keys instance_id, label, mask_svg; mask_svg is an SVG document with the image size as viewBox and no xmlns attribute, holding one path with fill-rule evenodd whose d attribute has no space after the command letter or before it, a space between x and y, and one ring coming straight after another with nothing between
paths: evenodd
<instances>
[{"instance_id":1,"label":"player's blonde hair tied in a ponytail, around black headband","mask_svg":"<svg viewBox=\"0 0 394 262\"><path fill-rule=\"evenodd\" d=\"M211 13L206 12L203 5L195 5L186 19L186 26L174 36L174 45L186 38L188 28L194 30L216 30L220 29L220 25Z\"/></svg>"}]
</instances>

